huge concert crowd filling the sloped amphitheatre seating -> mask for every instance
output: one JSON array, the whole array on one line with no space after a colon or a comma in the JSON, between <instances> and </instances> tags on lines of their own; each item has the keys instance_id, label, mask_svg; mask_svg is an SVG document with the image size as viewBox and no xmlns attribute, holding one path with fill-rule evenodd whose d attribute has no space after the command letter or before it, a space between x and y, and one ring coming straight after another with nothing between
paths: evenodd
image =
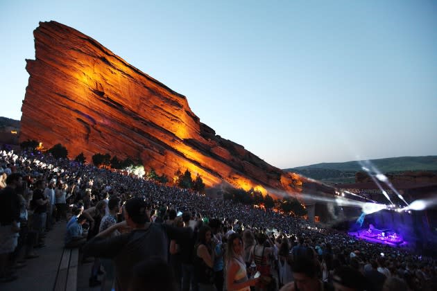
<instances>
[{"instance_id":1,"label":"huge concert crowd filling the sloped amphitheatre seating","mask_svg":"<svg viewBox=\"0 0 437 291\"><path fill-rule=\"evenodd\" d=\"M1 151L0 172L2 282L65 223L65 247L93 262L90 286L437 290L432 258L269 209L33 152Z\"/></svg>"}]
</instances>

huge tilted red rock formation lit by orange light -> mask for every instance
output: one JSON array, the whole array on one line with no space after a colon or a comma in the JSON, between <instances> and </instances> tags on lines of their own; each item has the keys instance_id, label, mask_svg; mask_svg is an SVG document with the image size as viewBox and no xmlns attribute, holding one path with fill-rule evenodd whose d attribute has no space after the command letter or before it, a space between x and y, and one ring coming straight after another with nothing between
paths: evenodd
<instances>
[{"instance_id":1,"label":"huge tilted red rock formation lit by orange light","mask_svg":"<svg viewBox=\"0 0 437 291\"><path fill-rule=\"evenodd\" d=\"M200 123L187 98L114 55L96 40L55 21L34 31L35 60L22 106L20 141L62 143L74 158L97 152L142 159L173 177L188 168L207 186L295 192L295 177L221 138Z\"/></svg>"}]
</instances>

